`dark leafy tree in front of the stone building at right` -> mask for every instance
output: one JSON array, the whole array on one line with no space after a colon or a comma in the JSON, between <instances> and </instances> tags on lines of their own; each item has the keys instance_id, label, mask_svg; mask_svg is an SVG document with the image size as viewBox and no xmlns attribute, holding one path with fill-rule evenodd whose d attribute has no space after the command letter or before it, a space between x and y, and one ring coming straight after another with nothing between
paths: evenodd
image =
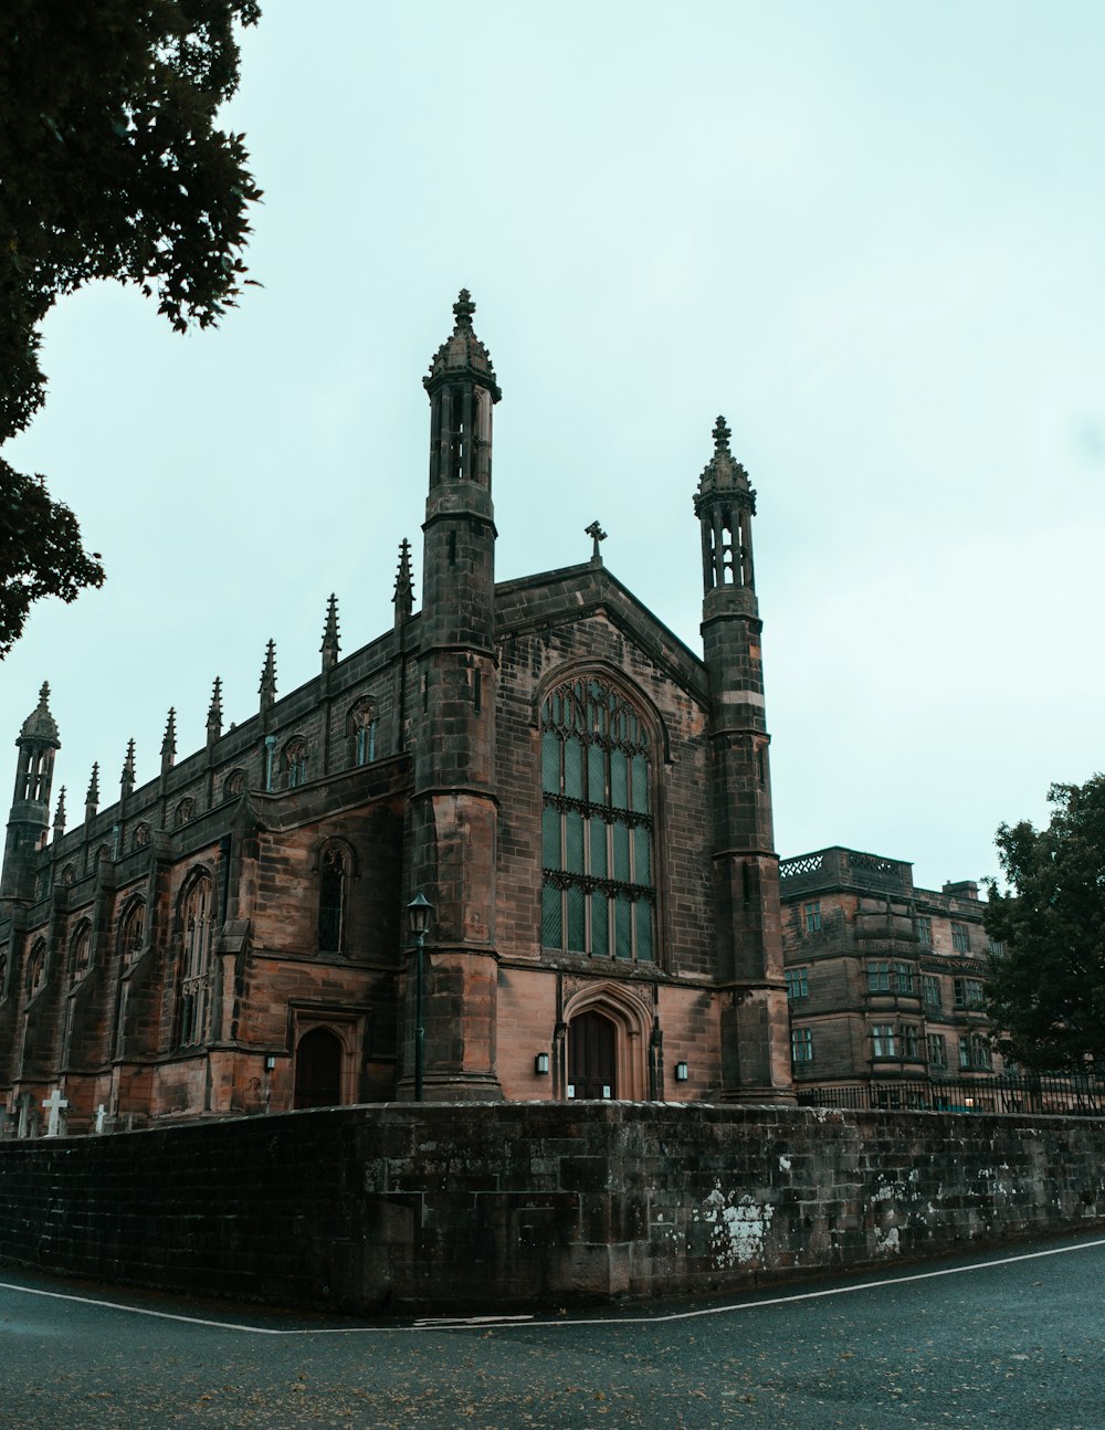
<instances>
[{"instance_id":1,"label":"dark leafy tree in front of the stone building at right","mask_svg":"<svg viewBox=\"0 0 1105 1430\"><path fill-rule=\"evenodd\" d=\"M1009 891L991 888L989 1014L1002 1050L1039 1070L1105 1068L1105 775L1052 785L1045 829L996 834Z\"/></svg>"}]
</instances>

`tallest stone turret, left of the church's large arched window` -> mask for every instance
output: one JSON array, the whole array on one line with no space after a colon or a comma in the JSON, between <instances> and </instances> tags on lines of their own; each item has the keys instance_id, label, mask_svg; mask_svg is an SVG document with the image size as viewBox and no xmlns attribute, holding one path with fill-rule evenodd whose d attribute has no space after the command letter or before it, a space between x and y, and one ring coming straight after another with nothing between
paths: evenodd
<instances>
[{"instance_id":1,"label":"tallest stone turret, left of the church's large arched window","mask_svg":"<svg viewBox=\"0 0 1105 1430\"><path fill-rule=\"evenodd\" d=\"M413 728L412 894L435 905L425 964L425 1095L500 1097L495 1070L495 511L500 398L467 290L423 379L430 473ZM409 980L413 984L413 980ZM403 1088L413 1075L409 987Z\"/></svg>"}]
</instances>

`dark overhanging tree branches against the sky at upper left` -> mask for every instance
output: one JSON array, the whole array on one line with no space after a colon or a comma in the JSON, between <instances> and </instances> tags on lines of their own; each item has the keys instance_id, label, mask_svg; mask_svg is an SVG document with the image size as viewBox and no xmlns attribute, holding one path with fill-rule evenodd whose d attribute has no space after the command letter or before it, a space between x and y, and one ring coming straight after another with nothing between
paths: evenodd
<instances>
[{"instance_id":1,"label":"dark overhanging tree branches against the sky at upper left","mask_svg":"<svg viewBox=\"0 0 1105 1430\"><path fill-rule=\"evenodd\" d=\"M256 0L3 0L0 443L41 406L41 322L91 279L137 283L179 332L217 323L246 279L260 190L242 134L236 24ZM103 582L43 478L0 460L0 656L43 595Z\"/></svg>"}]
</instances>

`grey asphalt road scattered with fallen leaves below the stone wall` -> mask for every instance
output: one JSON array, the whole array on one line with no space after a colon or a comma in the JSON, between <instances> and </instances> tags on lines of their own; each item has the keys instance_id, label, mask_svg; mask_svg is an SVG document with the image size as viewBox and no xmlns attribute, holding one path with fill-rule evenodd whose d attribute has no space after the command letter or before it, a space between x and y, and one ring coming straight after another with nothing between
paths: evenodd
<instances>
[{"instance_id":1,"label":"grey asphalt road scattered with fallen leaves below the stone wall","mask_svg":"<svg viewBox=\"0 0 1105 1430\"><path fill-rule=\"evenodd\" d=\"M4 1430L1105 1430L1105 1238L728 1303L352 1323L0 1268Z\"/></svg>"}]
</instances>

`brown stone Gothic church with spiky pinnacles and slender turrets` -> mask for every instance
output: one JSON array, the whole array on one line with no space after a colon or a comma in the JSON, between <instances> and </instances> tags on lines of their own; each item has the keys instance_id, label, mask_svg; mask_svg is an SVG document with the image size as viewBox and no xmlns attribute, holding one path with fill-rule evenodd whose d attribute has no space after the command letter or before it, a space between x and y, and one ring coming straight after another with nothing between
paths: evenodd
<instances>
[{"instance_id":1,"label":"brown stone Gothic church with spiky pinnacles and slender turrets","mask_svg":"<svg viewBox=\"0 0 1105 1430\"><path fill-rule=\"evenodd\" d=\"M792 1098L755 493L722 419L693 496L703 656L583 565L495 581L499 383L465 292L425 378L423 592L160 776L50 825L19 735L0 887L0 1105L69 1130L415 1095ZM407 904L433 905L422 960ZM422 964L419 987L416 971ZM416 1027L425 1028L417 1057ZM99 1110L99 1115L97 1115ZM106 1120L112 1120L106 1124Z\"/></svg>"}]
</instances>

